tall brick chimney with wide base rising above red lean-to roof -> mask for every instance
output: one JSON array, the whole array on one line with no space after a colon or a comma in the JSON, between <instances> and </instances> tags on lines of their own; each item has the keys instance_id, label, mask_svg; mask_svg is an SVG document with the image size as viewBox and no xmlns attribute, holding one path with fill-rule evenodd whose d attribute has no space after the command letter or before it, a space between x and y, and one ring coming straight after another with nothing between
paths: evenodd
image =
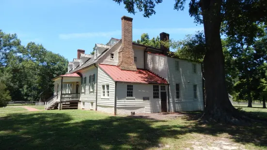
<instances>
[{"instance_id":1,"label":"tall brick chimney with wide base rising above red lean-to roof","mask_svg":"<svg viewBox=\"0 0 267 150\"><path fill-rule=\"evenodd\" d=\"M122 17L122 48L119 51L119 67L122 70L136 71L136 65L134 62L133 51L133 31L132 31L133 18L123 16Z\"/></svg>"}]
</instances>

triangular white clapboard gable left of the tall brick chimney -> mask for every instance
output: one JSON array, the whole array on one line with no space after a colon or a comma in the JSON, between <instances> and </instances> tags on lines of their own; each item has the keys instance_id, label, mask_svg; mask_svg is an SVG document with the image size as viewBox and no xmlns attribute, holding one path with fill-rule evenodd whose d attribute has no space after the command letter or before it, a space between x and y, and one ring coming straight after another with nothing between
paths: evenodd
<instances>
[{"instance_id":1,"label":"triangular white clapboard gable left of the tall brick chimney","mask_svg":"<svg viewBox=\"0 0 267 150\"><path fill-rule=\"evenodd\" d=\"M110 49L98 62L101 64L110 64L110 65L117 65L119 62L119 50L121 49L122 43L119 42L114 47ZM110 58L110 54L114 54L114 59Z\"/></svg>"}]
</instances>

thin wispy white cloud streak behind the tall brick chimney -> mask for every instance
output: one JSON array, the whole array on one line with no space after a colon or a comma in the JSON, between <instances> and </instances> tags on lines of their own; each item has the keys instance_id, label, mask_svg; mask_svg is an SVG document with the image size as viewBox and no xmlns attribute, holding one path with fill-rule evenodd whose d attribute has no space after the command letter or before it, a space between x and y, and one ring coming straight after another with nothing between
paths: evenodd
<instances>
[{"instance_id":1,"label":"thin wispy white cloud streak behind the tall brick chimney","mask_svg":"<svg viewBox=\"0 0 267 150\"><path fill-rule=\"evenodd\" d=\"M157 29L133 29L134 35L141 35L142 33L161 33L166 32L171 35L173 34L192 34L198 30L203 30L202 27L198 28L157 28ZM121 35L121 30L108 31L108 32L86 32L86 33L70 33L70 34L59 34L60 39L77 39L77 38L94 38L94 37L113 37Z\"/></svg>"}]
</instances>

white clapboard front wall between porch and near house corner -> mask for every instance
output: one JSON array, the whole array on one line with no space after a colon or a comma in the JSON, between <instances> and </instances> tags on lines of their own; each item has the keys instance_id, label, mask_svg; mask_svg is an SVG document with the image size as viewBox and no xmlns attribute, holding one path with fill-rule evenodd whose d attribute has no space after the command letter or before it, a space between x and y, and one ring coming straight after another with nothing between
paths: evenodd
<instances>
[{"instance_id":1,"label":"white clapboard front wall between porch and near house corner","mask_svg":"<svg viewBox=\"0 0 267 150\"><path fill-rule=\"evenodd\" d=\"M95 103L96 102L96 83L97 83L97 68L92 66L89 67L88 69L84 69L81 72L82 77L86 76L86 86L85 86L85 91L80 91L80 101L81 101L81 108L83 108L84 106L82 105L82 102L86 102L86 104L88 103L88 105L91 103ZM94 90L90 90L89 91L89 75L93 75L95 74L95 83L94 83ZM81 89L81 86L80 88ZM85 108L85 107L84 107ZM95 110L95 105L94 105L94 110Z\"/></svg>"}]
</instances>

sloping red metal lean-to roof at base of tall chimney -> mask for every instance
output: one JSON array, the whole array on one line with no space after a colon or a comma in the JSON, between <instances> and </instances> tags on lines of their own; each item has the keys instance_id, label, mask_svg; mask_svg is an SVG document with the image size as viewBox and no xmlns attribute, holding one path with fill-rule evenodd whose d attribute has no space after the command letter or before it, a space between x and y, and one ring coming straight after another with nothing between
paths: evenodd
<instances>
[{"instance_id":1,"label":"sloping red metal lean-to roof at base of tall chimney","mask_svg":"<svg viewBox=\"0 0 267 150\"><path fill-rule=\"evenodd\" d=\"M131 82L131 83L150 83L150 84L168 84L164 78L153 74L147 70L137 69L137 71L121 70L114 65L98 65L114 81Z\"/></svg>"}]
</instances>

